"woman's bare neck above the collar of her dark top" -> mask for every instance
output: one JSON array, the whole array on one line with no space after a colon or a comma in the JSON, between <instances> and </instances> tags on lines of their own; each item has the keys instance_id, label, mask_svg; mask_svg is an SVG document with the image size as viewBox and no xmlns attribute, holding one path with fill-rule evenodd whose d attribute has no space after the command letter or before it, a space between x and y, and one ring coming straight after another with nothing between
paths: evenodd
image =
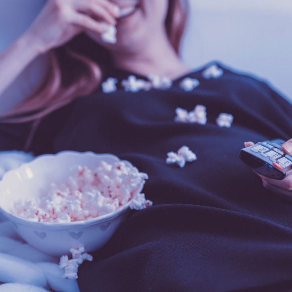
<instances>
[{"instance_id":1,"label":"woman's bare neck above the collar of her dark top","mask_svg":"<svg viewBox=\"0 0 292 292\"><path fill-rule=\"evenodd\" d=\"M114 66L143 76L150 74L176 79L190 68L176 54L167 37L151 37L151 44L132 52L113 52Z\"/></svg>"}]
</instances>

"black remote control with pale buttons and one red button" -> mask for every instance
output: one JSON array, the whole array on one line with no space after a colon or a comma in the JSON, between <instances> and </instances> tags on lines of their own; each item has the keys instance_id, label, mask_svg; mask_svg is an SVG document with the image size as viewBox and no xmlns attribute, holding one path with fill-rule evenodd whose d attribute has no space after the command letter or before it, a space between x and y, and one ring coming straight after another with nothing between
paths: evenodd
<instances>
[{"instance_id":1,"label":"black remote control with pale buttons and one red button","mask_svg":"<svg viewBox=\"0 0 292 292\"><path fill-rule=\"evenodd\" d=\"M292 156L282 150L282 139L258 142L241 149L239 158L257 173L268 178L282 180L292 169Z\"/></svg>"}]
</instances>

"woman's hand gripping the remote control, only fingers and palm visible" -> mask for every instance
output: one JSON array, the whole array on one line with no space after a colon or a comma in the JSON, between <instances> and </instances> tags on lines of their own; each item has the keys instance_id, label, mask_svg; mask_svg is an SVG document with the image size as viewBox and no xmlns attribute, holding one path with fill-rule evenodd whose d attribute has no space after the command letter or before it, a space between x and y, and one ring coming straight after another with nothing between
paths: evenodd
<instances>
[{"instance_id":1,"label":"woman's hand gripping the remote control, only fingers and palm visible","mask_svg":"<svg viewBox=\"0 0 292 292\"><path fill-rule=\"evenodd\" d=\"M249 147L254 145L253 142L245 142L244 146ZM288 140L282 145L282 150L288 155L292 156L292 139ZM292 170L287 173L287 176L284 180L274 180L272 178L267 178L263 175L257 173L258 176L263 181L263 186L273 192L284 195L285 197L292 199Z\"/></svg>"}]
</instances>

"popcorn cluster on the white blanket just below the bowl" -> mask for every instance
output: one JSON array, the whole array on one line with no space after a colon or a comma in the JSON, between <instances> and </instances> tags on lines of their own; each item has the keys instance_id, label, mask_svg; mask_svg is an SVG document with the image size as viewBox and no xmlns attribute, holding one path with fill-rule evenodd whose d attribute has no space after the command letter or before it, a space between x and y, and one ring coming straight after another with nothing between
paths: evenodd
<instances>
[{"instance_id":1,"label":"popcorn cluster on the white blanket just below the bowl","mask_svg":"<svg viewBox=\"0 0 292 292\"><path fill-rule=\"evenodd\" d=\"M84 260L92 261L93 257L84 252L84 247L78 249L71 248L70 253L72 253L72 259L69 260L68 256L61 256L59 267L60 269L65 270L65 274L62 278L66 279L77 279L78 267L81 265Z\"/></svg>"}]
</instances>

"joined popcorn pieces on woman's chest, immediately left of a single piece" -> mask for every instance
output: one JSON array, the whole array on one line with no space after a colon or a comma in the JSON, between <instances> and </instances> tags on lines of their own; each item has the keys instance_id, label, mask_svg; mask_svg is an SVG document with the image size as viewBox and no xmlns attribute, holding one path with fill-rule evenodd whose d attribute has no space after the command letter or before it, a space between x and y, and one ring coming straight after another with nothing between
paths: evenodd
<instances>
[{"instance_id":1,"label":"joined popcorn pieces on woman's chest, immediately left of a single piece","mask_svg":"<svg viewBox=\"0 0 292 292\"><path fill-rule=\"evenodd\" d=\"M179 123L198 123L205 125L207 123L207 112L204 105L197 105L192 111L178 107L176 110L175 121Z\"/></svg>"}]
</instances>

